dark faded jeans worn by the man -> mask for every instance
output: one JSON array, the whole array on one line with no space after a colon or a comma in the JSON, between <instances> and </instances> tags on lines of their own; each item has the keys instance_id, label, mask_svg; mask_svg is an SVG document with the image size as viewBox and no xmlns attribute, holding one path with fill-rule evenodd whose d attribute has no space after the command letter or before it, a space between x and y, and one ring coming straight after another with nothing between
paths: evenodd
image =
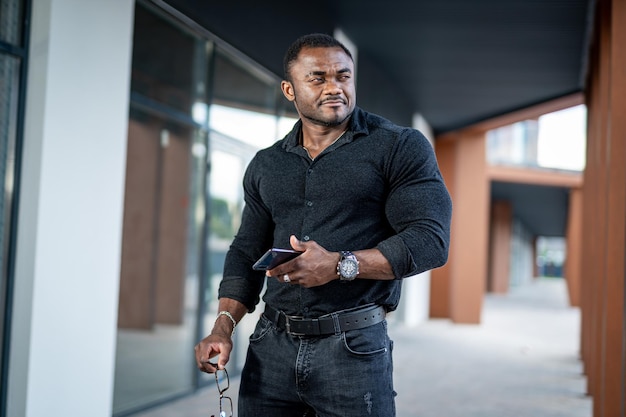
<instances>
[{"instance_id":1,"label":"dark faded jeans worn by the man","mask_svg":"<svg viewBox=\"0 0 626 417\"><path fill-rule=\"evenodd\" d=\"M394 417L387 322L297 337L261 316L250 337L239 417Z\"/></svg>"}]
</instances>

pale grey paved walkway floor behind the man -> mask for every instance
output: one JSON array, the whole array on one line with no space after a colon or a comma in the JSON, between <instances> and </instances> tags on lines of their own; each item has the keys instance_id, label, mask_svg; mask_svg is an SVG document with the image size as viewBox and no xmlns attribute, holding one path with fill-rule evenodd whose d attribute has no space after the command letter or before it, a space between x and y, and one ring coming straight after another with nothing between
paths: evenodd
<instances>
[{"instance_id":1,"label":"pale grey paved walkway floor behind the man","mask_svg":"<svg viewBox=\"0 0 626 417\"><path fill-rule=\"evenodd\" d=\"M391 325L397 417L591 417L579 311L566 300L563 280L538 279L488 295L481 325ZM208 417L216 407L209 387L137 417Z\"/></svg>"}]
</instances>

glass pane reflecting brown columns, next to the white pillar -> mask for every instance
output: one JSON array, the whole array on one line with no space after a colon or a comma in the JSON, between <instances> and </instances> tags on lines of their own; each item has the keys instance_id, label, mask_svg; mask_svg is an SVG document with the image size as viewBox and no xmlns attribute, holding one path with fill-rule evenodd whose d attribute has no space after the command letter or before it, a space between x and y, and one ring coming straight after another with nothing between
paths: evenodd
<instances>
[{"instance_id":1,"label":"glass pane reflecting brown columns, next to the white pillar","mask_svg":"<svg viewBox=\"0 0 626 417\"><path fill-rule=\"evenodd\" d=\"M191 392L207 131L192 115L205 41L138 4L128 124L115 413ZM200 45L200 48L198 47ZM204 64L204 63L203 63Z\"/></svg>"}]
</instances>

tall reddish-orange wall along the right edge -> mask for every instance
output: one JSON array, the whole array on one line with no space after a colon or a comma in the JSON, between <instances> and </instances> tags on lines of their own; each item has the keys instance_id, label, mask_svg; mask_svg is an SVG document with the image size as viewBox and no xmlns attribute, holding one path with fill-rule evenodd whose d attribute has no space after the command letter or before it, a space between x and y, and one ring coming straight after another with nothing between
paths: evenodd
<instances>
[{"instance_id":1,"label":"tall reddish-orange wall along the right edge","mask_svg":"<svg viewBox=\"0 0 626 417\"><path fill-rule=\"evenodd\" d=\"M594 417L624 417L626 2L596 2L587 80L581 348Z\"/></svg>"}]
</instances>

